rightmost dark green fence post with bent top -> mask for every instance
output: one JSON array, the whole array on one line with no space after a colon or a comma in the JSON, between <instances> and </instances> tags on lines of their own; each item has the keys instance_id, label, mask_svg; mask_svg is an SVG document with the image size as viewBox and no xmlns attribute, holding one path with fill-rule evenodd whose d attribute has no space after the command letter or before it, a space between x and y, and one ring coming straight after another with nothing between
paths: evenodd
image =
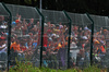
<instances>
[{"instance_id":1,"label":"rightmost dark green fence post with bent top","mask_svg":"<svg viewBox=\"0 0 109 72\"><path fill-rule=\"evenodd\" d=\"M94 21L89 16L88 13L86 13L87 17L92 21L92 36L90 36L90 65L93 65L93 36L94 36Z\"/></svg>"}]
</instances>

